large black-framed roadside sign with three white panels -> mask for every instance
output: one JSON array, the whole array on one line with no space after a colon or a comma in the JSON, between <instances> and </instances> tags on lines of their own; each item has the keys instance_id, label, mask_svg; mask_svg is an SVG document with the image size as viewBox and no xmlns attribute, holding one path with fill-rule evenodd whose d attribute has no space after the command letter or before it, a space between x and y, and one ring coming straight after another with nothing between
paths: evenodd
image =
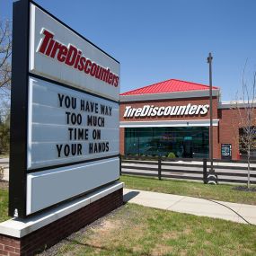
<instances>
[{"instance_id":1,"label":"large black-framed roadside sign with three white panels","mask_svg":"<svg viewBox=\"0 0 256 256\"><path fill-rule=\"evenodd\" d=\"M12 90L10 216L119 179L119 62L32 2L13 10Z\"/></svg>"}]
</instances>

